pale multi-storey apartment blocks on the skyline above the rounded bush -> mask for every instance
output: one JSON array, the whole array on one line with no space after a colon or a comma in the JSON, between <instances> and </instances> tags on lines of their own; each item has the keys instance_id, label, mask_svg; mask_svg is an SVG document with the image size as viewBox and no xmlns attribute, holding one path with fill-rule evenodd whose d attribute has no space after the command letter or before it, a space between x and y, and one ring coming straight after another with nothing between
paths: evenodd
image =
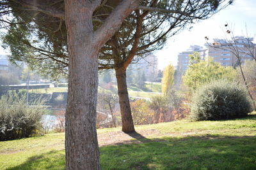
<instances>
[{"instance_id":1,"label":"pale multi-storey apartment blocks on the skyline above the rounded bush","mask_svg":"<svg viewBox=\"0 0 256 170\"><path fill-rule=\"evenodd\" d=\"M253 38L244 38L243 36L236 36L232 40L214 39L213 43L205 44L205 48L193 45L186 52L179 53L178 69L182 74L188 69L189 55L193 52L199 52L202 59L210 56L215 62L220 62L222 66L235 67L238 64L237 57L242 63L244 60L252 60L252 55L255 56L256 53L255 47Z\"/></svg>"}]
</instances>

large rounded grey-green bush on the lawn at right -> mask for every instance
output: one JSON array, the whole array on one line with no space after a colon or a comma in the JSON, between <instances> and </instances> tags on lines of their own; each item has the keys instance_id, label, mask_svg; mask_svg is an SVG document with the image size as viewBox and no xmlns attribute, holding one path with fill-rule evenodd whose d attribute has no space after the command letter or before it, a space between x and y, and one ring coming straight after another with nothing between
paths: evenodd
<instances>
[{"instance_id":1,"label":"large rounded grey-green bush on the lawn at right","mask_svg":"<svg viewBox=\"0 0 256 170\"><path fill-rule=\"evenodd\" d=\"M252 103L243 85L227 80L212 81L193 94L191 118L221 120L246 117Z\"/></svg>"}]
</instances>

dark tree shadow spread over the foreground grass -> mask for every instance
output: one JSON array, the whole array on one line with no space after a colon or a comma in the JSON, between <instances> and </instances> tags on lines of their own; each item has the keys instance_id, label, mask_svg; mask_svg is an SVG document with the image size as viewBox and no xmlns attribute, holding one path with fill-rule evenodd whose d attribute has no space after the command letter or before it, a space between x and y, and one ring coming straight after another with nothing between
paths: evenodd
<instances>
[{"instance_id":1,"label":"dark tree shadow spread over the foreground grass","mask_svg":"<svg viewBox=\"0 0 256 170\"><path fill-rule=\"evenodd\" d=\"M147 139L100 148L102 169L256 169L256 136L189 136ZM64 151L29 158L12 169L65 169Z\"/></svg>"}]
</instances>

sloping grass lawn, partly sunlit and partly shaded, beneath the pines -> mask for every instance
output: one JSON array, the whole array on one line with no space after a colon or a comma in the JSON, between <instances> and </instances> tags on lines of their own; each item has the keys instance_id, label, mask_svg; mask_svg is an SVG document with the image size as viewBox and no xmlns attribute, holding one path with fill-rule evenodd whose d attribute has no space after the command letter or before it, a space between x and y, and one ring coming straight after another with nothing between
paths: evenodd
<instances>
[{"instance_id":1,"label":"sloping grass lawn, partly sunlit and partly shaded, beneath the pines","mask_svg":"<svg viewBox=\"0 0 256 170\"><path fill-rule=\"evenodd\" d=\"M102 169L256 169L256 113L141 125L136 131L98 130ZM64 134L1 141L0 169L65 169Z\"/></svg>"}]
</instances>

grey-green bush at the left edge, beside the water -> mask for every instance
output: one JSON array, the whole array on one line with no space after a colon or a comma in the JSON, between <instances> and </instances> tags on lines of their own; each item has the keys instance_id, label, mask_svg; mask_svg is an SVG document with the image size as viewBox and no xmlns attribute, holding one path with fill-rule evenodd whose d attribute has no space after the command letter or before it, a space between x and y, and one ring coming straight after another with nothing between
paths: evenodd
<instances>
[{"instance_id":1,"label":"grey-green bush at the left edge, beside the water","mask_svg":"<svg viewBox=\"0 0 256 170\"><path fill-rule=\"evenodd\" d=\"M38 105L38 104L36 104ZM26 138L40 128L44 109L40 106L29 107L26 97L10 93L0 99L0 141Z\"/></svg>"}]
</instances>

